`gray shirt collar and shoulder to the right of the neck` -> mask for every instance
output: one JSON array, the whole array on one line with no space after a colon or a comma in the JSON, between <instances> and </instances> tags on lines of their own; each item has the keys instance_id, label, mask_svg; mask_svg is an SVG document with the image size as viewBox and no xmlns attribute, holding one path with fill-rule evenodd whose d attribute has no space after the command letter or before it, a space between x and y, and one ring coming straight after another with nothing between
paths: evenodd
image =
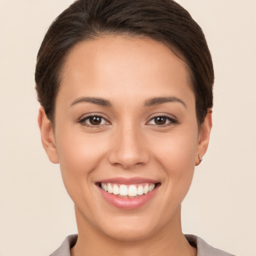
<instances>
[{"instance_id":1,"label":"gray shirt collar and shoulder to the right of the neck","mask_svg":"<svg viewBox=\"0 0 256 256\"><path fill-rule=\"evenodd\" d=\"M197 247L196 256L234 256L233 254L210 246L203 239L196 235L185 234L185 237L192 246Z\"/></svg>"}]
</instances>

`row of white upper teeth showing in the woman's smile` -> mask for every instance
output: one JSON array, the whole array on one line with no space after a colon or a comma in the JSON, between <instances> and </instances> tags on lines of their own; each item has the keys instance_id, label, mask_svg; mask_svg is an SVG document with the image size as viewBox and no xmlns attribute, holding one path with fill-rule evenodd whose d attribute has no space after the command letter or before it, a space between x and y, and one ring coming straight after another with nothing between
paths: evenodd
<instances>
[{"instance_id":1,"label":"row of white upper teeth showing in the woman's smile","mask_svg":"<svg viewBox=\"0 0 256 256\"><path fill-rule=\"evenodd\" d=\"M135 184L132 185L117 185L112 183L101 183L101 188L108 193L113 193L115 195L119 196L128 196L133 197L137 195L147 194L148 192L152 191L155 187L155 184L153 183L145 183L143 186Z\"/></svg>"}]
</instances>

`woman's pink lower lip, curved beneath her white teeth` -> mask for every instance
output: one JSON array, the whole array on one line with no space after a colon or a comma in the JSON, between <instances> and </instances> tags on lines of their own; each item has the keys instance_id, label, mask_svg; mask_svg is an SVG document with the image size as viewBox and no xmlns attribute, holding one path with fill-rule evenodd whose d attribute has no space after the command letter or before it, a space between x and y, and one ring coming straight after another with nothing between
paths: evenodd
<instances>
[{"instance_id":1,"label":"woman's pink lower lip, curved beneath her white teeth","mask_svg":"<svg viewBox=\"0 0 256 256\"><path fill-rule=\"evenodd\" d=\"M136 209L146 204L156 193L158 186L147 194L142 194L133 198L119 197L114 194L110 194L98 186L98 189L104 199L113 206L121 209Z\"/></svg>"}]
</instances>

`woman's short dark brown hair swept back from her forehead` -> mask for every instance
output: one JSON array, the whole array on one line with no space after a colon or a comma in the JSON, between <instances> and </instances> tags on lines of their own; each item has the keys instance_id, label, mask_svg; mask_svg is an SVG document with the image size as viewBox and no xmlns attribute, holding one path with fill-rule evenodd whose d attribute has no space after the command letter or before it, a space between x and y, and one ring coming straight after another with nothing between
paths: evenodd
<instances>
[{"instance_id":1,"label":"woman's short dark brown hair swept back from her forehead","mask_svg":"<svg viewBox=\"0 0 256 256\"><path fill-rule=\"evenodd\" d=\"M189 68L201 124L212 107L211 55L199 25L173 0L76 0L50 25L37 54L37 97L54 121L61 68L78 42L104 34L148 37L166 44Z\"/></svg>"}]
</instances>

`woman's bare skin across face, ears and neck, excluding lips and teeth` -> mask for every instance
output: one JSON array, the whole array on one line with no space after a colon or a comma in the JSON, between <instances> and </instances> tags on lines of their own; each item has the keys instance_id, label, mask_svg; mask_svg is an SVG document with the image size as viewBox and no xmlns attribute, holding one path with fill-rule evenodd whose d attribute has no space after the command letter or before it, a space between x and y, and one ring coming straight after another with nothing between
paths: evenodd
<instances>
[{"instance_id":1,"label":"woman's bare skin across face, ears and neck, excluding lips and teeth","mask_svg":"<svg viewBox=\"0 0 256 256\"><path fill-rule=\"evenodd\" d=\"M166 96L178 100L145 105ZM81 97L100 97L111 106L77 100ZM100 125L84 119L91 114L103 117ZM157 125L156 116L167 116L166 122ZM54 118L53 130L40 108L42 144L60 164L74 202L78 240L71 255L196 255L182 234L180 203L198 155L206 152L211 111L198 130L182 60L147 38L81 42L66 58ZM160 186L142 207L119 209L95 185L116 176L150 178Z\"/></svg>"}]
</instances>

